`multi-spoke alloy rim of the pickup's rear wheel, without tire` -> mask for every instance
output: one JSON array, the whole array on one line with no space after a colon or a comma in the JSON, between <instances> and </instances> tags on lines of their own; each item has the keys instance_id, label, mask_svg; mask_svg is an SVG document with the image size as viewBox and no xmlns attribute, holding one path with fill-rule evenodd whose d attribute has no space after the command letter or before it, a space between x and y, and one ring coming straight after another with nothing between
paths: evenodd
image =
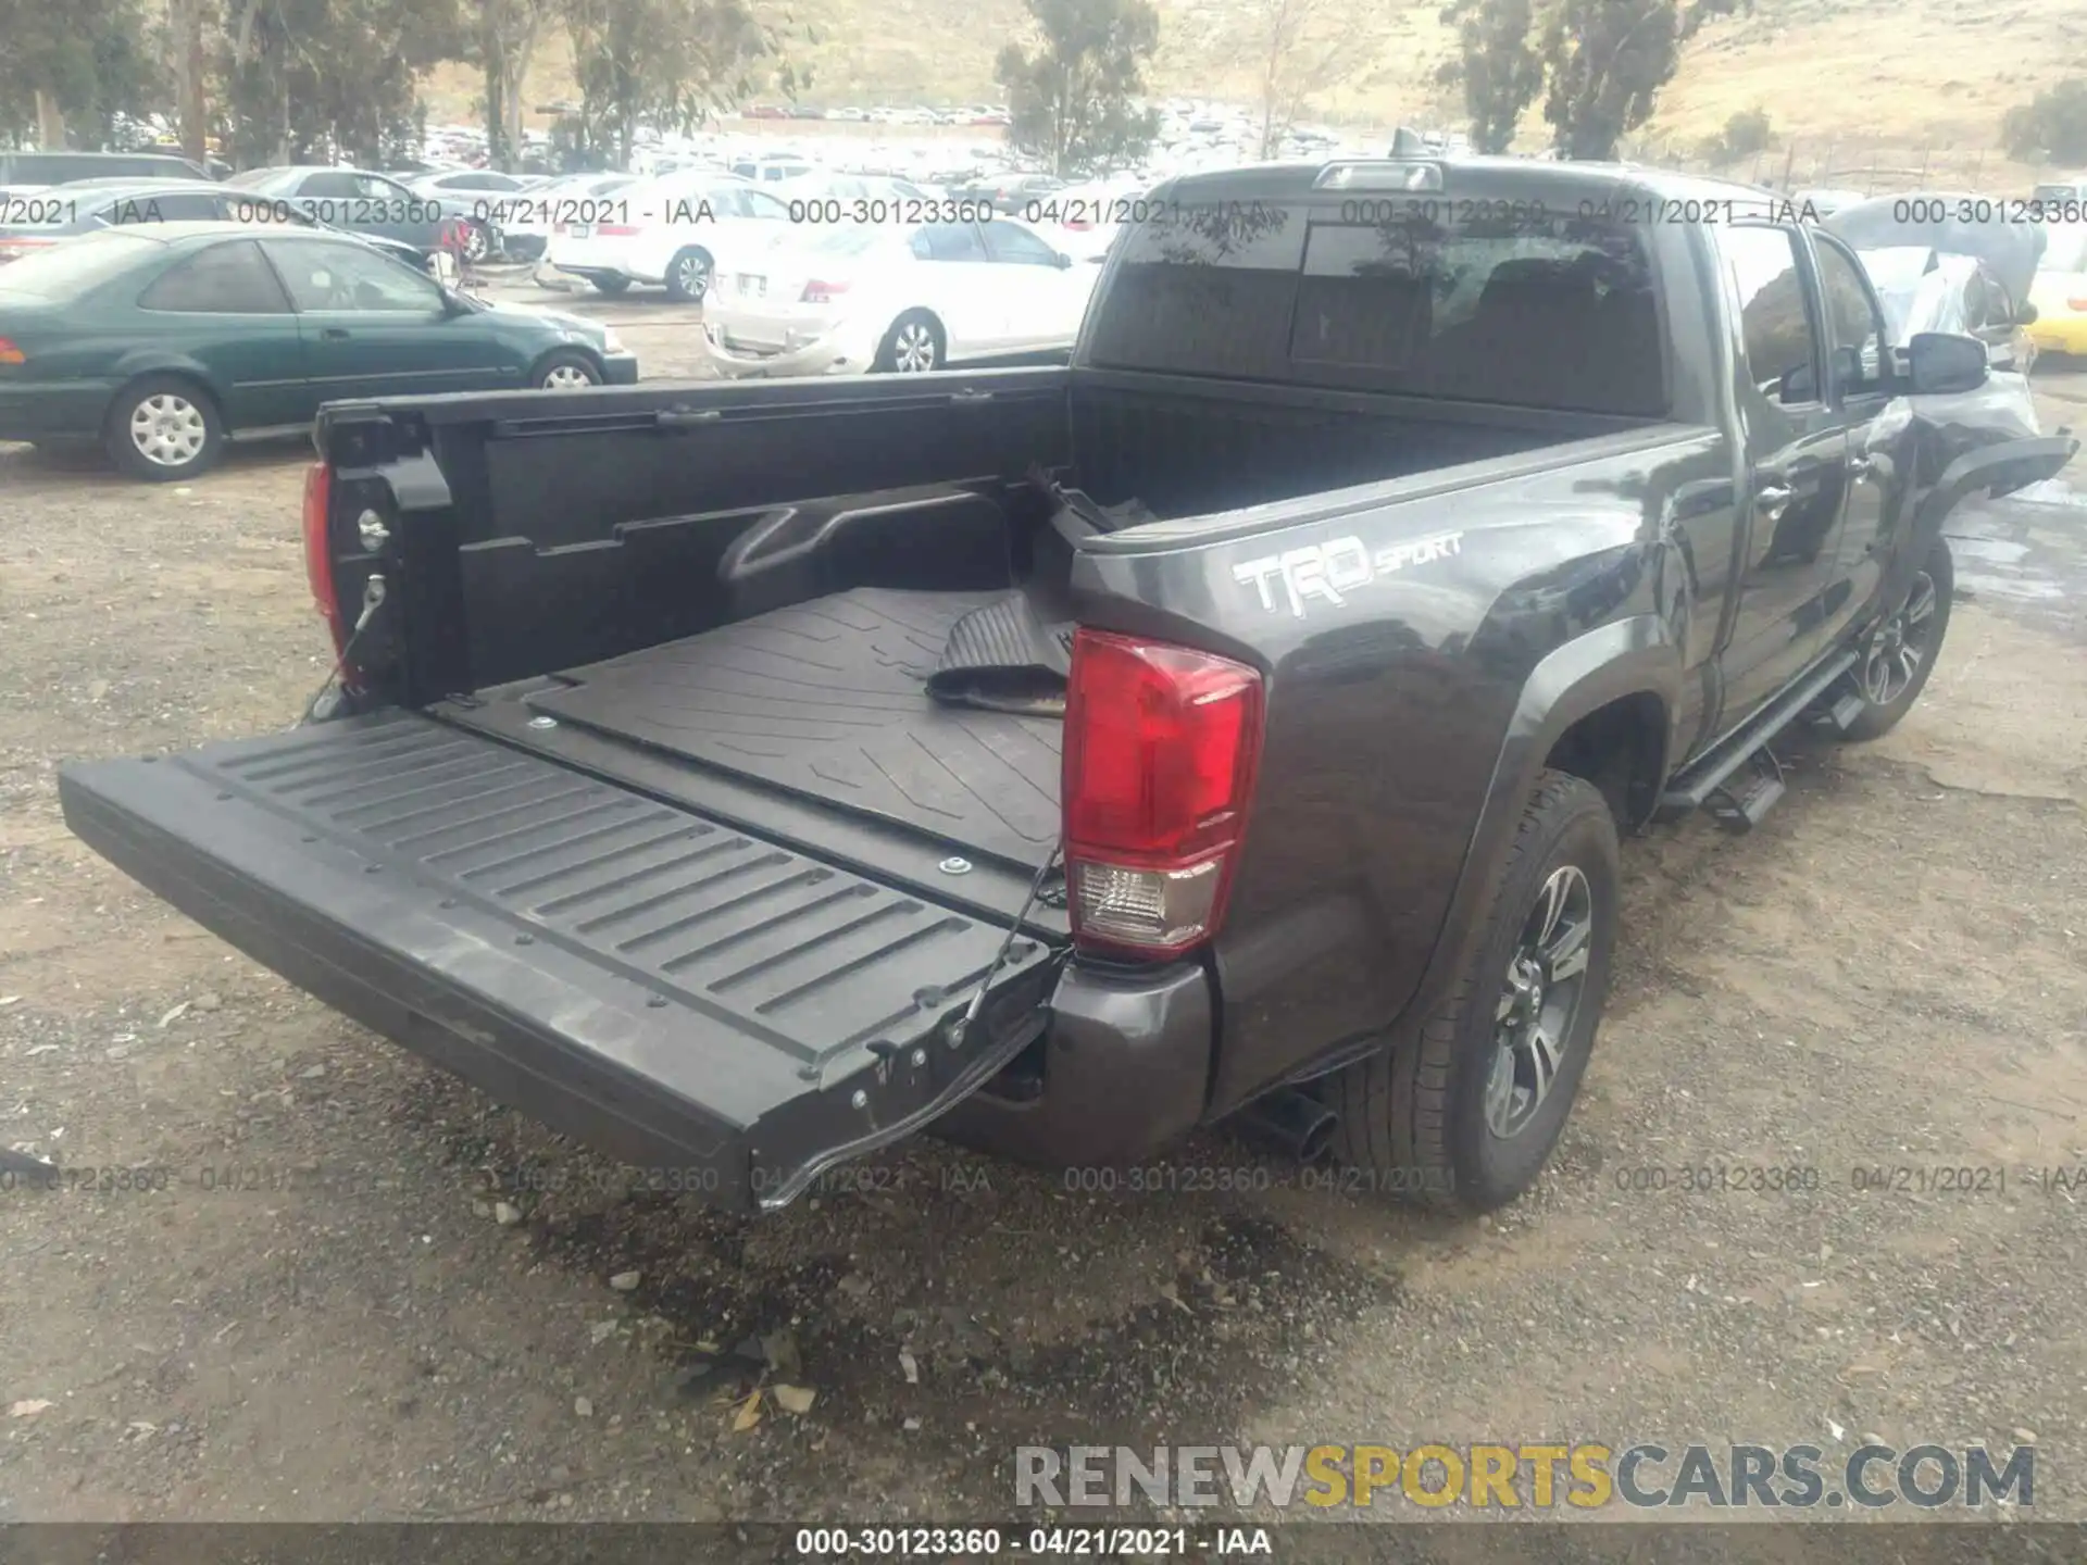
<instances>
[{"instance_id":1,"label":"multi-spoke alloy rim of the pickup's rear wheel, without tire","mask_svg":"<svg viewBox=\"0 0 2087 1565\"><path fill-rule=\"evenodd\" d=\"M1580 1018L1594 943L1594 891L1576 866L1551 872L1507 962L1494 1010L1486 1125L1505 1139L1536 1118Z\"/></svg>"}]
</instances>

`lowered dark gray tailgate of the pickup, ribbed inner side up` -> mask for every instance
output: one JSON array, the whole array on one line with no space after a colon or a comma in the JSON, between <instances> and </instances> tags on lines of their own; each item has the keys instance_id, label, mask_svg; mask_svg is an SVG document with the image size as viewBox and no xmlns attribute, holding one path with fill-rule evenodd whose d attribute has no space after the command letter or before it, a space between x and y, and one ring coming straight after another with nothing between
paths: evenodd
<instances>
[{"instance_id":1,"label":"lowered dark gray tailgate of the pickup, ribbed inner side up","mask_svg":"<svg viewBox=\"0 0 2087 1565\"><path fill-rule=\"evenodd\" d=\"M733 1208L906 1135L1044 1027L1058 952L430 718L67 766L67 824L493 1098Z\"/></svg>"}]
</instances>

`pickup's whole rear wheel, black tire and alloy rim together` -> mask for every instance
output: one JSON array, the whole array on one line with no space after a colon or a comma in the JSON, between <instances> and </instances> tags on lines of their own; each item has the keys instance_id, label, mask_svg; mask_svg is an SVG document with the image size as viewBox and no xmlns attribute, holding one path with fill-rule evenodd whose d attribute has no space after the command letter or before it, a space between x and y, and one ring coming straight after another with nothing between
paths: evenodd
<instances>
[{"instance_id":1,"label":"pickup's whole rear wheel, black tire and alloy rim together","mask_svg":"<svg viewBox=\"0 0 2087 1565\"><path fill-rule=\"evenodd\" d=\"M1544 772L1448 995L1413 1037L1327 1083L1336 1154L1386 1194L1461 1212L1536 1183L1594 1048L1620 881L1601 791Z\"/></svg>"}]
</instances>

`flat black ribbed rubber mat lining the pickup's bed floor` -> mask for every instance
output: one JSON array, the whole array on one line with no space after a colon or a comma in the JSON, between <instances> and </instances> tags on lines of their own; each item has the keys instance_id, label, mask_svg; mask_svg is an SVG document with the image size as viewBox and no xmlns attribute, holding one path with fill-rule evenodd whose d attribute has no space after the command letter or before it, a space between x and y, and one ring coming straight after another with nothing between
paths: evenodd
<instances>
[{"instance_id":1,"label":"flat black ribbed rubber mat lining the pickup's bed floor","mask_svg":"<svg viewBox=\"0 0 2087 1565\"><path fill-rule=\"evenodd\" d=\"M1039 866L1062 724L927 695L950 628L1006 593L858 588L559 674L530 709Z\"/></svg>"}]
</instances>

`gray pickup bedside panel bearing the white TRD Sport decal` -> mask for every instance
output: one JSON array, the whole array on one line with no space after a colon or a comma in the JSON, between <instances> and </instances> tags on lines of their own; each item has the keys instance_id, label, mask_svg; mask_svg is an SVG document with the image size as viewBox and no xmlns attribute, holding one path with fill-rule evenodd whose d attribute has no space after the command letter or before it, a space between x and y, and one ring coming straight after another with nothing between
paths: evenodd
<instances>
[{"instance_id":1,"label":"gray pickup bedside panel bearing the white TRD Sport decal","mask_svg":"<svg viewBox=\"0 0 2087 1565\"><path fill-rule=\"evenodd\" d=\"M1490 472L1511 463L1530 459ZM1582 661L1607 670L1628 647L1626 682L1663 701L1670 749L1690 707L1682 668L1701 632L1678 513L1705 486L1730 497L1724 438L1661 426L1624 455L1486 474L1319 497L1306 520L1221 543L1081 555L1085 624L1267 676L1261 782L1213 952L1213 1114L1382 1035L1415 1000L1496 770L1519 789L1515 757L1534 749L1540 764L1544 726L1572 718L1572 689L1530 705L1546 657L1605 634ZM1584 684L1588 699L1599 689Z\"/></svg>"}]
</instances>

